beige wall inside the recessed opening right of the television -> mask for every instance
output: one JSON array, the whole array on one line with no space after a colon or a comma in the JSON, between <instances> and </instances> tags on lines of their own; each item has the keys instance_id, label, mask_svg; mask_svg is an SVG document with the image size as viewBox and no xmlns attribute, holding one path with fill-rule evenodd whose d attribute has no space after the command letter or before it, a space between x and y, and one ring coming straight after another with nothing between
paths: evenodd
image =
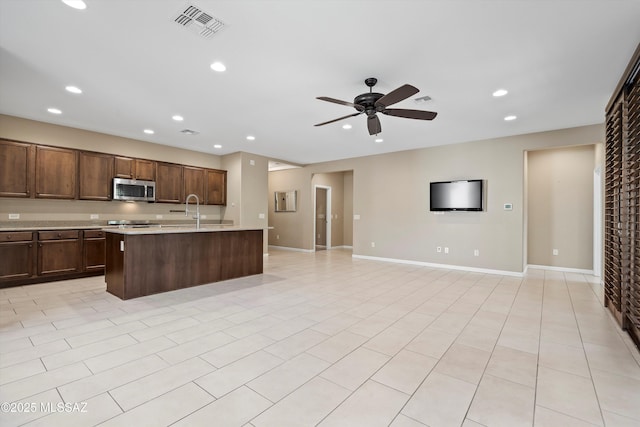
<instances>
[{"instance_id":1,"label":"beige wall inside the recessed opening right of the television","mask_svg":"<svg viewBox=\"0 0 640 427\"><path fill-rule=\"evenodd\" d=\"M528 263L591 270L595 145L531 151L527 157Z\"/></svg>"}]
</instances>

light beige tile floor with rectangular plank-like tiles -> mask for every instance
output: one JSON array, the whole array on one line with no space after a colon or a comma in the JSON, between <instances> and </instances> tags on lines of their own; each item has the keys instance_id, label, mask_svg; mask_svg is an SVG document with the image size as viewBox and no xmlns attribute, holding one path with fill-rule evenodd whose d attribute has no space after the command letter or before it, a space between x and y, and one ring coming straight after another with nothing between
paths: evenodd
<instances>
[{"instance_id":1,"label":"light beige tile floor with rectangular plank-like tiles","mask_svg":"<svg viewBox=\"0 0 640 427\"><path fill-rule=\"evenodd\" d=\"M0 425L638 426L598 283L336 249L130 301L104 277L0 289Z\"/></svg>"}]
</instances>

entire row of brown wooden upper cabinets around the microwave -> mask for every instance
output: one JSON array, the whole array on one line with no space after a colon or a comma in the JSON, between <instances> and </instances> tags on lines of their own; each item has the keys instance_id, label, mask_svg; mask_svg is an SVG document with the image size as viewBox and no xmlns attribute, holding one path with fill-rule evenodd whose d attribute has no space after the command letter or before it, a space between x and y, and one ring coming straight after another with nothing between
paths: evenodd
<instances>
[{"instance_id":1,"label":"entire row of brown wooden upper cabinets around the microwave","mask_svg":"<svg viewBox=\"0 0 640 427\"><path fill-rule=\"evenodd\" d=\"M109 201L113 178L156 182L156 201L227 204L227 171L0 139L0 197Z\"/></svg>"}]
</instances>

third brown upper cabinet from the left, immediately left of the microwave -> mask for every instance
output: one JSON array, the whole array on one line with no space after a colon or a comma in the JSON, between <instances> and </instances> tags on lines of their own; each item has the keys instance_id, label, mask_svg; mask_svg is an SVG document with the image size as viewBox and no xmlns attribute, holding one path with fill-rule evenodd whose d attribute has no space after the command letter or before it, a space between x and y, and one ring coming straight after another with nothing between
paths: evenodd
<instances>
[{"instance_id":1,"label":"third brown upper cabinet from the left, immediately left of the microwave","mask_svg":"<svg viewBox=\"0 0 640 427\"><path fill-rule=\"evenodd\" d=\"M78 162L79 198L83 200L111 200L113 156L80 152Z\"/></svg>"}]
</instances>

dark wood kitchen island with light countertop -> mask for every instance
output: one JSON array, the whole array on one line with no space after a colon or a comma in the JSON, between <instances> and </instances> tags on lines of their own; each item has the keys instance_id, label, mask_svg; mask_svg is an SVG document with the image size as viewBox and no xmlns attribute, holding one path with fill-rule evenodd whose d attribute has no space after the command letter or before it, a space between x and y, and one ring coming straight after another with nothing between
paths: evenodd
<instances>
[{"instance_id":1,"label":"dark wood kitchen island with light countertop","mask_svg":"<svg viewBox=\"0 0 640 427\"><path fill-rule=\"evenodd\" d=\"M262 273L262 229L205 226L104 231L107 292L125 300Z\"/></svg>"}]
</instances>

